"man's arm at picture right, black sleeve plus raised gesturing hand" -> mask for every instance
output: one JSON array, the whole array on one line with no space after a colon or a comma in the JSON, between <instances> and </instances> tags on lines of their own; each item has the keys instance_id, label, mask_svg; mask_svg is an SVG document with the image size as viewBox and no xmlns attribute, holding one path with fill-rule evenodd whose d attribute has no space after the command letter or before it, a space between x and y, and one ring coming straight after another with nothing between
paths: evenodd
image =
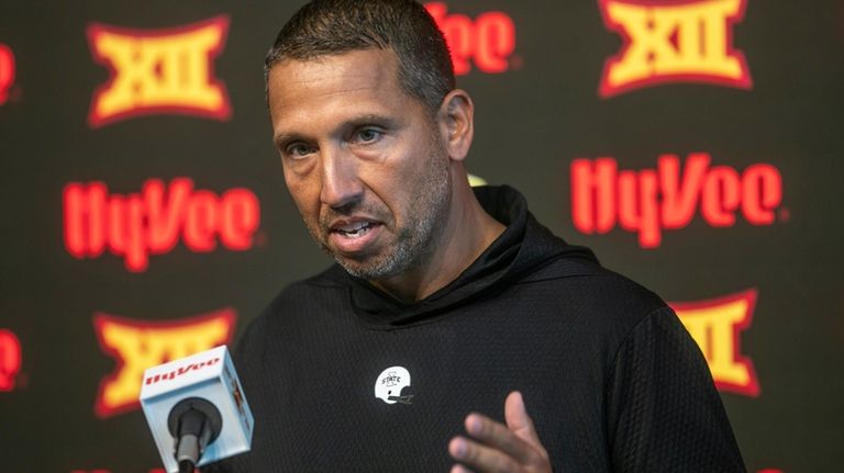
<instances>
[{"instance_id":1,"label":"man's arm at picture right, black sleeve plus raised gesturing hand","mask_svg":"<svg viewBox=\"0 0 844 473\"><path fill-rule=\"evenodd\" d=\"M746 471L709 367L670 308L629 334L604 388L612 471ZM506 425L467 416L468 438L452 439L451 455L478 472L551 472L521 394L508 396L504 413ZM452 473L466 471L455 465Z\"/></svg>"}]
</instances>

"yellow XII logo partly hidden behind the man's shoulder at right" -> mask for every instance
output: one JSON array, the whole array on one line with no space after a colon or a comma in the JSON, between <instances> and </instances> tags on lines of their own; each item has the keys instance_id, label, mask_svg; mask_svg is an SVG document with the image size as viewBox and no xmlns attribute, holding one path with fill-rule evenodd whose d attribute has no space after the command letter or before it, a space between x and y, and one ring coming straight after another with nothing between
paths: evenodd
<instances>
[{"instance_id":1,"label":"yellow XII logo partly hidden behind the man's shoulder at right","mask_svg":"<svg viewBox=\"0 0 844 473\"><path fill-rule=\"evenodd\" d=\"M753 362L741 354L740 344L740 334L753 319L756 291L670 305L703 351L718 388L758 396L759 384Z\"/></svg>"}]
</instances>

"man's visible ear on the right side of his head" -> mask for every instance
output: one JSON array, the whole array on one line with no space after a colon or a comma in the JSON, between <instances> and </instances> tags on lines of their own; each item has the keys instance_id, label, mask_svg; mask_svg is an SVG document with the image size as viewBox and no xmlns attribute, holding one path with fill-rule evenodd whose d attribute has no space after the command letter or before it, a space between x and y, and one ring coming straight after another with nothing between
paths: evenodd
<instances>
[{"instance_id":1,"label":"man's visible ear on the right side of his head","mask_svg":"<svg viewBox=\"0 0 844 473\"><path fill-rule=\"evenodd\" d=\"M475 105L466 91L455 89L448 92L440 105L438 123L448 157L463 161L469 154L475 135Z\"/></svg>"}]
</instances>

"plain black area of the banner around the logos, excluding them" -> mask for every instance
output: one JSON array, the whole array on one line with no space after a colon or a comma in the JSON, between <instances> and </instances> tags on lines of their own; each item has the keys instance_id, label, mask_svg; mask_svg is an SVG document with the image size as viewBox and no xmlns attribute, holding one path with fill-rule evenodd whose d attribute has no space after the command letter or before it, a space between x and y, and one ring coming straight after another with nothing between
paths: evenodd
<instances>
[{"instance_id":1,"label":"plain black area of the banner around the logos, excluding them","mask_svg":"<svg viewBox=\"0 0 844 473\"><path fill-rule=\"evenodd\" d=\"M16 77L0 106L2 233L0 328L20 338L18 386L0 393L0 471L146 472L159 464L140 410L100 419L93 404L115 361L100 349L96 312L140 320L178 319L222 307L240 334L286 283L329 261L313 245L285 189L270 143L262 65L298 1L4 2L0 43ZM601 99L604 60L621 47L597 0L452 1L473 19L502 11L517 27L512 67L458 78L476 102L469 170L509 183L535 215L571 243L667 301L758 290L742 353L760 395L722 393L749 471L834 471L844 440L844 4L836 0L748 0L733 29L751 90L671 83ZM129 119L91 128L93 91L108 70L92 57L92 22L171 27L229 15L214 60L230 121L185 115ZM779 169L777 222L712 228L698 215L667 230L655 249L619 228L582 235L571 224L569 166L614 157L621 169L655 168L665 153L710 153L740 172ZM63 243L62 190L103 181L138 192L147 179L190 177L216 193L251 189L262 225L247 251L195 254L182 244L131 273L122 258L75 259ZM246 393L248 396L248 393Z\"/></svg>"}]
</instances>

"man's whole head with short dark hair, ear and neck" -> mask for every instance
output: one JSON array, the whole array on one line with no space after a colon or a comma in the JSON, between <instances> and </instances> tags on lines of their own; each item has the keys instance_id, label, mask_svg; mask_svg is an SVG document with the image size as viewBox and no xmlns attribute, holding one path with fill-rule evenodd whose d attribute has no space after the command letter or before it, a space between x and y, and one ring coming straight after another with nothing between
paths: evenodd
<instances>
[{"instance_id":1,"label":"man's whole head with short dark hair, ear and neck","mask_svg":"<svg viewBox=\"0 0 844 473\"><path fill-rule=\"evenodd\" d=\"M474 109L433 20L404 0L318 0L278 38L267 103L311 235L402 299L456 277L477 256L462 162Z\"/></svg>"}]
</instances>

